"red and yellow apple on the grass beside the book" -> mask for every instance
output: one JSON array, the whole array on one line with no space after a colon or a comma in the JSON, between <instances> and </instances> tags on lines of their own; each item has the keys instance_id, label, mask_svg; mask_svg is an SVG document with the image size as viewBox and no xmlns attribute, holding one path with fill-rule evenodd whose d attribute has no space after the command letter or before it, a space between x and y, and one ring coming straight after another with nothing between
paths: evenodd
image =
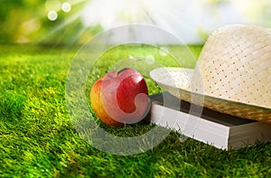
<instances>
[{"instance_id":1,"label":"red and yellow apple on the grass beside the book","mask_svg":"<svg viewBox=\"0 0 271 178\"><path fill-rule=\"evenodd\" d=\"M107 72L97 80L90 90L90 102L95 114L109 126L134 124L150 108L145 79L131 68Z\"/></svg>"}]
</instances>

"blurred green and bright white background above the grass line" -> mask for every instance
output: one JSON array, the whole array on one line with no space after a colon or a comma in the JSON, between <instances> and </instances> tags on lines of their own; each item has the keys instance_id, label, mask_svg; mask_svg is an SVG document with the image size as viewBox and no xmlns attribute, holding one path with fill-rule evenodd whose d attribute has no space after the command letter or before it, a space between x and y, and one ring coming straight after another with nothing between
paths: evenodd
<instances>
[{"instance_id":1,"label":"blurred green and bright white background above the grass line","mask_svg":"<svg viewBox=\"0 0 271 178\"><path fill-rule=\"evenodd\" d=\"M164 28L202 43L228 23L271 25L269 0L1 0L0 42L83 43L127 23Z\"/></svg>"}]
</instances>

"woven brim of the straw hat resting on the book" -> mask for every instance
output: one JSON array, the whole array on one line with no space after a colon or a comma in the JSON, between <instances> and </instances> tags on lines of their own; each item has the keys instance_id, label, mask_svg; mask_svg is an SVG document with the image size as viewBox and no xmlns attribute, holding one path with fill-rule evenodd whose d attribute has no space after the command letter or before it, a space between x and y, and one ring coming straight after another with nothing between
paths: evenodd
<instances>
[{"instance_id":1,"label":"woven brim of the straw hat resting on the book","mask_svg":"<svg viewBox=\"0 0 271 178\"><path fill-rule=\"evenodd\" d=\"M271 108L192 91L193 72L192 69L164 67L152 70L150 76L176 98L232 116L271 123Z\"/></svg>"}]
</instances>

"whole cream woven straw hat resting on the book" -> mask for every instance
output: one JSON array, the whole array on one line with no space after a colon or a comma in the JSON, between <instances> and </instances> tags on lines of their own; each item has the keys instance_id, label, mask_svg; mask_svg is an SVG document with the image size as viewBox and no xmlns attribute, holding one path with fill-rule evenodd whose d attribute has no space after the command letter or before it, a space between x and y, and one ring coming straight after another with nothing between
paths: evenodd
<instances>
[{"instance_id":1,"label":"whole cream woven straw hat resting on the book","mask_svg":"<svg viewBox=\"0 0 271 178\"><path fill-rule=\"evenodd\" d=\"M158 68L150 75L183 100L202 98L206 108L271 123L271 29L224 26L205 42L195 70Z\"/></svg>"}]
</instances>

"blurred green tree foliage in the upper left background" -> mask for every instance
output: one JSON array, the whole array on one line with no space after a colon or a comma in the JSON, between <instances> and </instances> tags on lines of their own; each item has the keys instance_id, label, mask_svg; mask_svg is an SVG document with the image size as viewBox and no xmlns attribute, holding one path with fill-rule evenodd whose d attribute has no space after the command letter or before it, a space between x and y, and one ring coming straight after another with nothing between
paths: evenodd
<instances>
[{"instance_id":1,"label":"blurred green tree foliage in the upper left background","mask_svg":"<svg viewBox=\"0 0 271 178\"><path fill-rule=\"evenodd\" d=\"M73 5L69 13L59 10L57 20L50 21L44 0L0 0L0 42L86 42L102 30L81 23L79 10L86 2Z\"/></svg>"}]
</instances>

